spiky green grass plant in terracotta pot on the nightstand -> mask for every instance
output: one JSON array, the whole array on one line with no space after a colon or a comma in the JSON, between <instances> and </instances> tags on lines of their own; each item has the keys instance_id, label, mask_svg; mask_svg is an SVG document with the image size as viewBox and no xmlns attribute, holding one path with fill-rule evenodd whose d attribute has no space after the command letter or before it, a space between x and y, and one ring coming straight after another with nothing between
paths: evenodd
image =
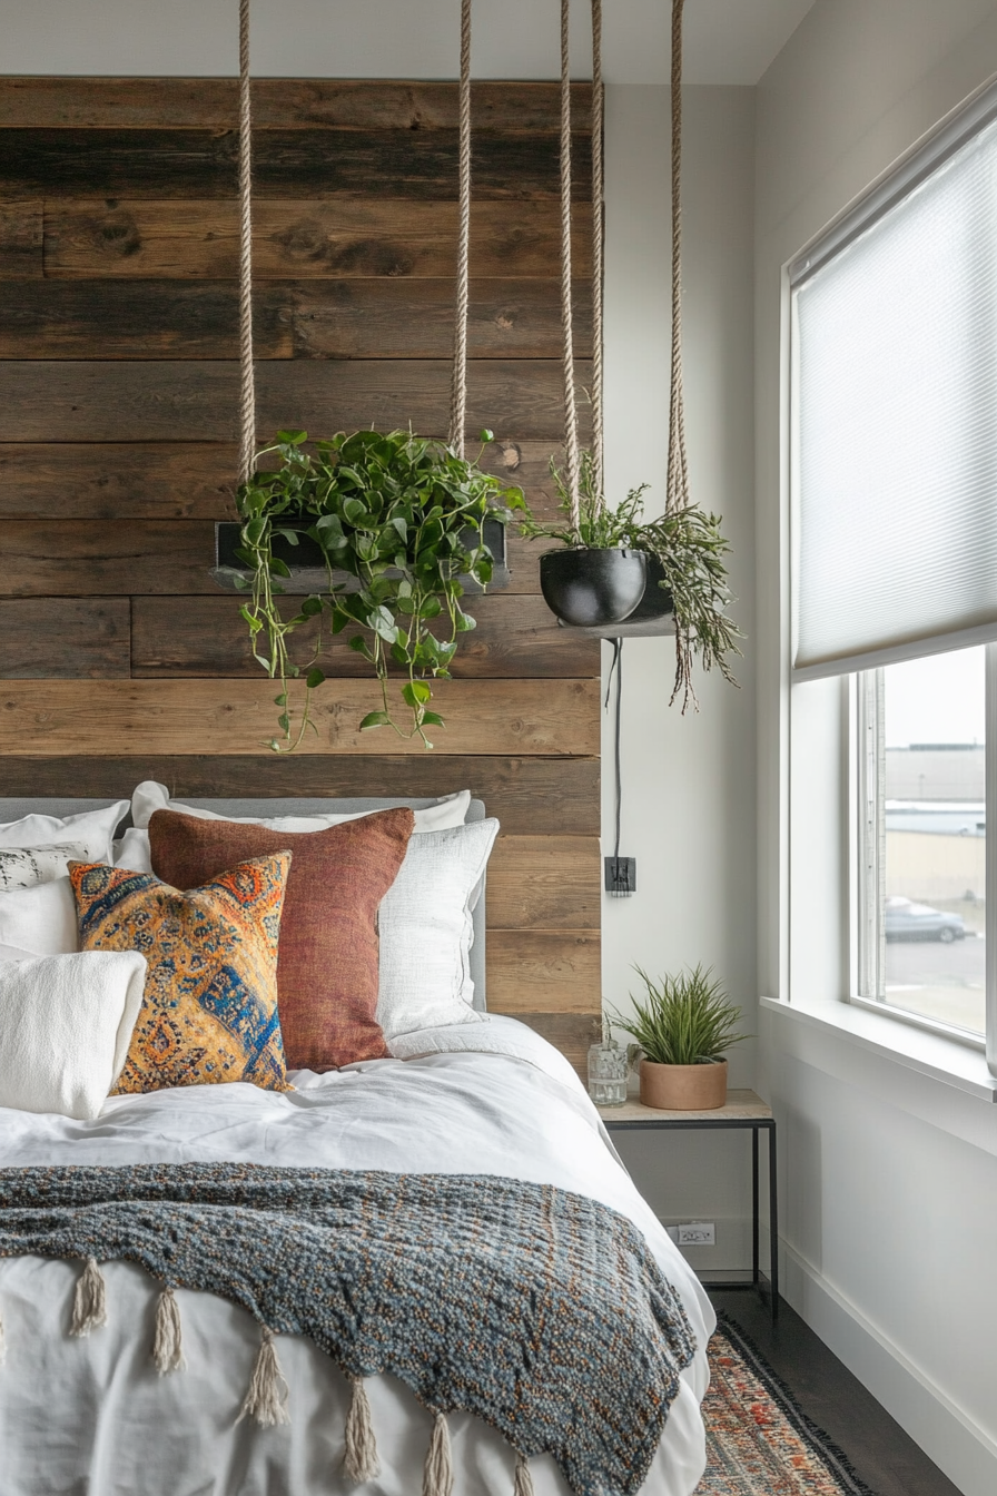
<instances>
[{"instance_id":1,"label":"spiky green grass plant in terracotta pot on the nightstand","mask_svg":"<svg viewBox=\"0 0 997 1496\"><path fill-rule=\"evenodd\" d=\"M664 1112L712 1112L726 1101L726 1059L741 1010L723 984L703 965L652 981L635 968L646 996L632 998L629 1016L613 1013L613 1023L631 1034L641 1055L640 1100Z\"/></svg>"}]
</instances>

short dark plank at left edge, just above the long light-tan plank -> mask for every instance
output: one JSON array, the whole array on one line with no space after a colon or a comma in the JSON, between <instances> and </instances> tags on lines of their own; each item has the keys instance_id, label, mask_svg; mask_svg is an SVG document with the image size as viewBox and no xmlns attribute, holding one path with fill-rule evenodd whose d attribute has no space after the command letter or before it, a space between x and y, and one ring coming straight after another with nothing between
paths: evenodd
<instances>
[{"instance_id":1,"label":"short dark plank at left edge, just above the long light-tan plank","mask_svg":"<svg viewBox=\"0 0 997 1496\"><path fill-rule=\"evenodd\" d=\"M0 673L21 681L127 679L132 673L129 600L0 600Z\"/></svg>"}]
</instances>

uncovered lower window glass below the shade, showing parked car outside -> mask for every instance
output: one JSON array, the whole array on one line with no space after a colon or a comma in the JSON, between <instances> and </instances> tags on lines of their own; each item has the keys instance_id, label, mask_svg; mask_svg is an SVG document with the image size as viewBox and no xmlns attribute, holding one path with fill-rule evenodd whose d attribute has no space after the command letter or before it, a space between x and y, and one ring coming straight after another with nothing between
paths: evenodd
<instances>
[{"instance_id":1,"label":"uncovered lower window glass below the shade, showing parked car outside","mask_svg":"<svg viewBox=\"0 0 997 1496\"><path fill-rule=\"evenodd\" d=\"M987 1031L987 651L858 676L859 998Z\"/></svg>"}]
</instances>

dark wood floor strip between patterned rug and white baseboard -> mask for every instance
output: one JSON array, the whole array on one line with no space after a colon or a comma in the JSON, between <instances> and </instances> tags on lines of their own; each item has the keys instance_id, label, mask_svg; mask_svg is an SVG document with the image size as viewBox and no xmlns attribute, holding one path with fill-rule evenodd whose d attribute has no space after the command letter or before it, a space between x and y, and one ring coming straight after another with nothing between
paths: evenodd
<instances>
[{"instance_id":1,"label":"dark wood floor strip between patterned rug and white baseboard","mask_svg":"<svg viewBox=\"0 0 997 1496\"><path fill-rule=\"evenodd\" d=\"M780 1303L773 1325L753 1293L714 1291L710 1297L753 1340L800 1408L848 1454L876 1496L960 1496L789 1305Z\"/></svg>"}]
</instances>

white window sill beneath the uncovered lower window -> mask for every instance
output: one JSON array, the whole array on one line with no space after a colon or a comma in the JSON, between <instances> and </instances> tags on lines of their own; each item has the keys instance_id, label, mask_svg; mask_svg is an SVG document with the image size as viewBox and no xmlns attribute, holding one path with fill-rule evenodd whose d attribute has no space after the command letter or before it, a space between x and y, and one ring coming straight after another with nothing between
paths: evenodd
<instances>
[{"instance_id":1,"label":"white window sill beneath the uncovered lower window","mask_svg":"<svg viewBox=\"0 0 997 1496\"><path fill-rule=\"evenodd\" d=\"M915 1028L851 1002L800 1004L782 1002L777 998L761 998L759 1002L765 1013L779 1014L780 1019L818 1034L834 1035L842 1043L858 1047L891 1067L901 1067L945 1086L954 1086L991 1106L997 1103L997 1077L987 1068L987 1058L979 1050L943 1034Z\"/></svg>"}]
</instances>

